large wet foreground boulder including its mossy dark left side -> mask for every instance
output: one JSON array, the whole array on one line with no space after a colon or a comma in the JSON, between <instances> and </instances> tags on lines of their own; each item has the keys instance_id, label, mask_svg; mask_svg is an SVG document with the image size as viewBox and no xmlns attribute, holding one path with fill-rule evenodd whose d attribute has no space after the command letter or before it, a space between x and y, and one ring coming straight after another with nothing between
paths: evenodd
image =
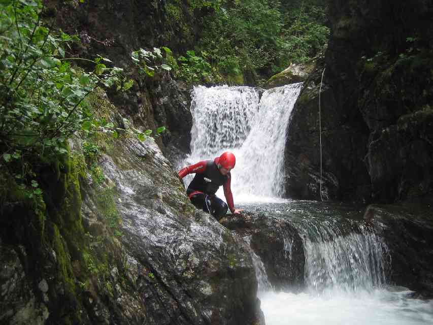
<instances>
[{"instance_id":1,"label":"large wet foreground boulder including its mossy dark left side","mask_svg":"<svg viewBox=\"0 0 433 325\"><path fill-rule=\"evenodd\" d=\"M189 203L153 140L111 143L102 180L71 145L71 166L38 179L40 218L2 207L2 323L264 323L249 251Z\"/></svg>"}]
</instances>

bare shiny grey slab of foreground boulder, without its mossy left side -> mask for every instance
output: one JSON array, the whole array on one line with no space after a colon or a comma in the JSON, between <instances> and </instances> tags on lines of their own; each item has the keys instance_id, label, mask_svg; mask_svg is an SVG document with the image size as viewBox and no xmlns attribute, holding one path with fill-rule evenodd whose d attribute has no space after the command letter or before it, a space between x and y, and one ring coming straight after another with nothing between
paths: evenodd
<instances>
[{"instance_id":1,"label":"bare shiny grey slab of foreground boulder, without its mossy left side","mask_svg":"<svg viewBox=\"0 0 433 325\"><path fill-rule=\"evenodd\" d=\"M130 286L111 285L118 317L158 324L263 322L248 250L189 203L156 143L126 139L113 150L101 164L120 199L119 239L130 265L123 268ZM152 159L142 159L146 153ZM113 281L120 279L115 273ZM101 307L93 313L104 318Z\"/></svg>"}]
</instances>

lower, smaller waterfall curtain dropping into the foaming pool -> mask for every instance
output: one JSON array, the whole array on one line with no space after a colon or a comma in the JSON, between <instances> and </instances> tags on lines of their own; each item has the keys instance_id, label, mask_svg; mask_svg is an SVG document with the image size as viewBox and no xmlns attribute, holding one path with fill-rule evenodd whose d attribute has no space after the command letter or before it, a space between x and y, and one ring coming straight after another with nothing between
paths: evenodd
<instances>
[{"instance_id":1,"label":"lower, smaller waterfall curtain dropping into the foaming pool","mask_svg":"<svg viewBox=\"0 0 433 325\"><path fill-rule=\"evenodd\" d=\"M304 278L312 293L371 290L387 284L387 246L365 225L346 222L349 231L332 220L305 220L298 228L304 241Z\"/></svg>"}]
</instances>

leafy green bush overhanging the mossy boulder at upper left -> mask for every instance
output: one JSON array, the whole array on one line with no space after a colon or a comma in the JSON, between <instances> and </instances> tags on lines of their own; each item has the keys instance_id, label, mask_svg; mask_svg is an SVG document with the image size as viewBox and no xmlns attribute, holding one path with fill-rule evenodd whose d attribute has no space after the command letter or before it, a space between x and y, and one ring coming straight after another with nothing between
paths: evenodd
<instances>
[{"instance_id":1,"label":"leafy green bush overhanging the mossy boulder at upper left","mask_svg":"<svg viewBox=\"0 0 433 325\"><path fill-rule=\"evenodd\" d=\"M29 196L42 193L31 183L36 162L68 155L68 139L96 133L116 139L127 133L145 140L151 134L130 127L127 119L118 127L97 114L99 108L87 100L96 89L126 91L134 81L101 55L66 57L66 49L80 42L79 38L55 31L54 22L43 16L41 0L0 2L0 164L15 175ZM163 59L157 48L151 52L140 49L132 58L136 68L148 76L158 69L171 70L166 64L151 63ZM91 71L77 67L77 62L90 63ZM97 154L86 144L83 149L89 156Z\"/></svg>"}]
</instances>

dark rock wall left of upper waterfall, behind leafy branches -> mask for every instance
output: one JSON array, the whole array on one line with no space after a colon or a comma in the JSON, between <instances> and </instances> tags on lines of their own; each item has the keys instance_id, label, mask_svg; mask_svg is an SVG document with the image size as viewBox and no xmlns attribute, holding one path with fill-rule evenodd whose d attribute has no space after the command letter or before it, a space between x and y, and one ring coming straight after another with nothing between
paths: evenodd
<instances>
[{"instance_id":1,"label":"dark rock wall left of upper waterfall, behind leafy branches","mask_svg":"<svg viewBox=\"0 0 433 325\"><path fill-rule=\"evenodd\" d=\"M78 33L82 39L82 44L72 49L74 55L89 58L104 55L115 66L128 71L134 85L127 92L110 92L110 100L136 127L155 131L165 126L166 132L157 142L164 154L175 161L189 152L190 89L175 82L167 72L157 72L150 78L128 70L131 52L140 48L165 46L177 55L193 48L200 17L206 13L198 9L190 12L189 6L179 2L177 7L170 5L170 8L179 11L185 21L172 21L173 12L169 13L167 6L165 1L130 0L50 5L56 25L71 35Z\"/></svg>"}]
</instances>

